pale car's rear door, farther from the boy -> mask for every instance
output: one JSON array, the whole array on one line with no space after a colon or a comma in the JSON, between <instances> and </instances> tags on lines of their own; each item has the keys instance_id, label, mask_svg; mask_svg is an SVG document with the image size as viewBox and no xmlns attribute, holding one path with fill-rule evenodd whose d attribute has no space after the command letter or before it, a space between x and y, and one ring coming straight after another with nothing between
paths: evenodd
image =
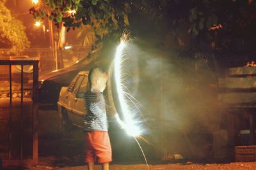
<instances>
[{"instance_id":1,"label":"pale car's rear door, farther from the boy","mask_svg":"<svg viewBox=\"0 0 256 170\"><path fill-rule=\"evenodd\" d=\"M76 93L81 85L81 82L83 81L84 76L81 74L78 74L77 80L74 83L74 87L72 88L71 92L68 94L68 106L70 106L70 114L68 117L70 118L72 124L76 124L74 122L74 106L76 105Z\"/></svg>"}]
</instances>

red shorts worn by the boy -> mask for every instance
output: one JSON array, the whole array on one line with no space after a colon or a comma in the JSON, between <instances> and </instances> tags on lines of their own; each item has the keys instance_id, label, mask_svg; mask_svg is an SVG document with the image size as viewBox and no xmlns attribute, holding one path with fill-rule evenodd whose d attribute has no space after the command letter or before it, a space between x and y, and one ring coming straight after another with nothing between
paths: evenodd
<instances>
[{"instance_id":1,"label":"red shorts worn by the boy","mask_svg":"<svg viewBox=\"0 0 256 170\"><path fill-rule=\"evenodd\" d=\"M85 162L105 163L112 161L108 132L92 131L85 134Z\"/></svg>"}]
</instances>

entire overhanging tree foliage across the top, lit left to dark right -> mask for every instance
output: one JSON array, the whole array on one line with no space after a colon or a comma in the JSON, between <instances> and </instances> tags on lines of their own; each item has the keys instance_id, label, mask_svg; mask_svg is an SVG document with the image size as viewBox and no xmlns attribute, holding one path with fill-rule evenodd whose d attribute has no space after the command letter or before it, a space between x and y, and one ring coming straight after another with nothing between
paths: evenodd
<instances>
[{"instance_id":1,"label":"entire overhanging tree foliage across the top, lit left to dark right","mask_svg":"<svg viewBox=\"0 0 256 170\"><path fill-rule=\"evenodd\" d=\"M51 13L31 8L36 20L48 17L56 25L64 22L68 29L90 24L97 39L115 39L125 28L155 27L152 34L159 39L171 36L180 50L192 53L252 51L256 43L253 0L44 0L44 4Z\"/></svg>"}]
</instances>

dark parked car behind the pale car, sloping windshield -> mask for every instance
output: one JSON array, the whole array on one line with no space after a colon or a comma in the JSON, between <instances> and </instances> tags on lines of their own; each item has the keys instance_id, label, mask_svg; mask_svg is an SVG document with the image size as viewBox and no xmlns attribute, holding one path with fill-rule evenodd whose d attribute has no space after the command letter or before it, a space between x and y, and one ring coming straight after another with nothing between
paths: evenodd
<instances>
[{"instance_id":1,"label":"dark parked car behind the pale car, sloping windshield","mask_svg":"<svg viewBox=\"0 0 256 170\"><path fill-rule=\"evenodd\" d=\"M38 102L56 104L60 94L61 87L68 86L70 81L79 73L79 71L90 70L93 67L93 59L97 53L92 53L81 60L63 69L52 71L38 78Z\"/></svg>"}]
</instances>

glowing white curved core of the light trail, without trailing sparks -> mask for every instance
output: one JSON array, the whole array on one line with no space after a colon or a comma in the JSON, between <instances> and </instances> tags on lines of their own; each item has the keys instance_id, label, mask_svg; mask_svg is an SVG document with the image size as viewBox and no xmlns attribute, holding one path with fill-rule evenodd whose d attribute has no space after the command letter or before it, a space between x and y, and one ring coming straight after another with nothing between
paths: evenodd
<instances>
[{"instance_id":1,"label":"glowing white curved core of the light trail, without trailing sparks","mask_svg":"<svg viewBox=\"0 0 256 170\"><path fill-rule=\"evenodd\" d=\"M125 40L127 39L127 35L124 34L122 37L122 40L120 42L120 45L118 45L116 49L116 55L115 55L115 82L116 82L116 90L118 95L118 100L120 102L120 108L122 110L122 113L124 115L124 122L118 118L119 124L121 124L127 134L130 136L140 136L140 129L136 127L134 124L134 120L132 120L131 111L129 111L129 107L127 102L125 101L125 87L122 83L122 57L123 57L123 50L125 48Z\"/></svg>"}]
</instances>

